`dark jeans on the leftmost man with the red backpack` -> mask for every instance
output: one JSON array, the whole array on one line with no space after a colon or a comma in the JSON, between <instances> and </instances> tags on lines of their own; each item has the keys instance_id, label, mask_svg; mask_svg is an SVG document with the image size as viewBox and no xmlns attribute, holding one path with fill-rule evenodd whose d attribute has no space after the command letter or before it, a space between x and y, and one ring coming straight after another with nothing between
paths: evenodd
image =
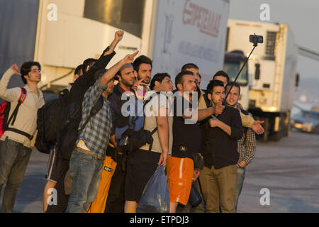
<instances>
[{"instance_id":1,"label":"dark jeans on the leftmost man with the red backpack","mask_svg":"<svg viewBox=\"0 0 319 227\"><path fill-rule=\"evenodd\" d=\"M6 183L1 207L2 213L11 213L13 210L16 193L26 172L31 151L22 143L8 138L0 141L0 193L2 186Z\"/></svg>"}]
</instances>

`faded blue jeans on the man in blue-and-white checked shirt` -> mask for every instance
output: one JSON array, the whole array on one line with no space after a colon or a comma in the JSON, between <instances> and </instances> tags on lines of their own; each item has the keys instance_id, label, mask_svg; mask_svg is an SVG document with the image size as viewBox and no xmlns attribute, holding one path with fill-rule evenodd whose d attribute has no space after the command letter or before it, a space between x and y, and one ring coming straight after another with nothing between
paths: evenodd
<instances>
[{"instance_id":1,"label":"faded blue jeans on the man in blue-and-white checked shirt","mask_svg":"<svg viewBox=\"0 0 319 227\"><path fill-rule=\"evenodd\" d=\"M99 190L103 160L73 151L69 160L72 177L72 192L67 204L67 213L86 213Z\"/></svg>"}]
</instances>

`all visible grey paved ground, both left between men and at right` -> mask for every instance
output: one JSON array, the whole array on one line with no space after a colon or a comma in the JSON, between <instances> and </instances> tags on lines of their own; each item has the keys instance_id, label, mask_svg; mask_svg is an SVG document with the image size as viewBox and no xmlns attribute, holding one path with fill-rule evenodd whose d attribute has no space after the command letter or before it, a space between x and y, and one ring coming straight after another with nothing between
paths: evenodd
<instances>
[{"instance_id":1,"label":"all visible grey paved ground, both left between men and at right","mask_svg":"<svg viewBox=\"0 0 319 227\"><path fill-rule=\"evenodd\" d=\"M36 150L31 155L16 197L15 212L43 211L47 158L48 155ZM260 194L262 189L269 189L269 205L260 203L264 196ZM319 135L295 131L279 142L258 143L254 160L247 167L237 210L239 213L319 212L318 194Z\"/></svg>"}]
</instances>

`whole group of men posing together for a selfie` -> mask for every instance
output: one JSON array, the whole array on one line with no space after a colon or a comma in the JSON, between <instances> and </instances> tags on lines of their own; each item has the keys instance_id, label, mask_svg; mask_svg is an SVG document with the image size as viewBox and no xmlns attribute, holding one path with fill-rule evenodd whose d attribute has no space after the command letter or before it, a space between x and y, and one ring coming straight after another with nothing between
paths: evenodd
<instances>
[{"instance_id":1,"label":"whole group of men posing together for a selfie","mask_svg":"<svg viewBox=\"0 0 319 227\"><path fill-rule=\"evenodd\" d=\"M81 130L69 160L55 148L50 152L43 210L134 213L148 180L158 165L163 165L170 212L178 211L179 204L187 205L194 183L203 192L206 206L201 211L235 212L245 167L256 149L254 132L263 133L262 122L254 121L238 103L240 86L229 82L228 75L219 71L203 91L199 69L191 63L181 68L175 84L167 73L151 77L152 60L144 55L135 59L138 52L126 55L106 70L122 38L123 31L117 31L99 60L87 59L79 65L74 83L67 87L69 103L82 101ZM1 136L0 192L6 183L2 212L13 211L35 144L37 111L45 104L37 88L40 70L38 62L24 63L21 73L13 65L0 81L0 97L11 102L9 116L21 96L20 88L7 88L9 79L17 74L26 84L26 100L11 128L33 135L28 138L5 131ZM155 96L147 102L149 92ZM229 95L226 104L222 104L225 92ZM130 155L119 149L116 138L117 129L129 125L131 119L123 116L124 94L144 101L144 109L152 113L145 115L143 128L151 132L152 143L145 143ZM91 116L99 101L101 108ZM48 203L52 188L57 191L56 204Z\"/></svg>"}]
</instances>

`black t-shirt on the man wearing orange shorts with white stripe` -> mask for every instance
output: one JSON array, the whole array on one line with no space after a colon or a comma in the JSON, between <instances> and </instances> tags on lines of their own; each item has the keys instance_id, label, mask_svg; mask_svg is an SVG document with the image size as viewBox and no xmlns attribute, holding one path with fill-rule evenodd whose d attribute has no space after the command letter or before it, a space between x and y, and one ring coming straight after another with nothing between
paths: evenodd
<instances>
[{"instance_id":1,"label":"black t-shirt on the man wearing orange shorts with white stripe","mask_svg":"<svg viewBox=\"0 0 319 227\"><path fill-rule=\"evenodd\" d=\"M178 107L180 109L177 109ZM192 153L199 153L201 148L201 130L198 121L189 124L181 116L189 108L192 106L184 97L179 96L174 99L173 157L191 157Z\"/></svg>"}]
</instances>

